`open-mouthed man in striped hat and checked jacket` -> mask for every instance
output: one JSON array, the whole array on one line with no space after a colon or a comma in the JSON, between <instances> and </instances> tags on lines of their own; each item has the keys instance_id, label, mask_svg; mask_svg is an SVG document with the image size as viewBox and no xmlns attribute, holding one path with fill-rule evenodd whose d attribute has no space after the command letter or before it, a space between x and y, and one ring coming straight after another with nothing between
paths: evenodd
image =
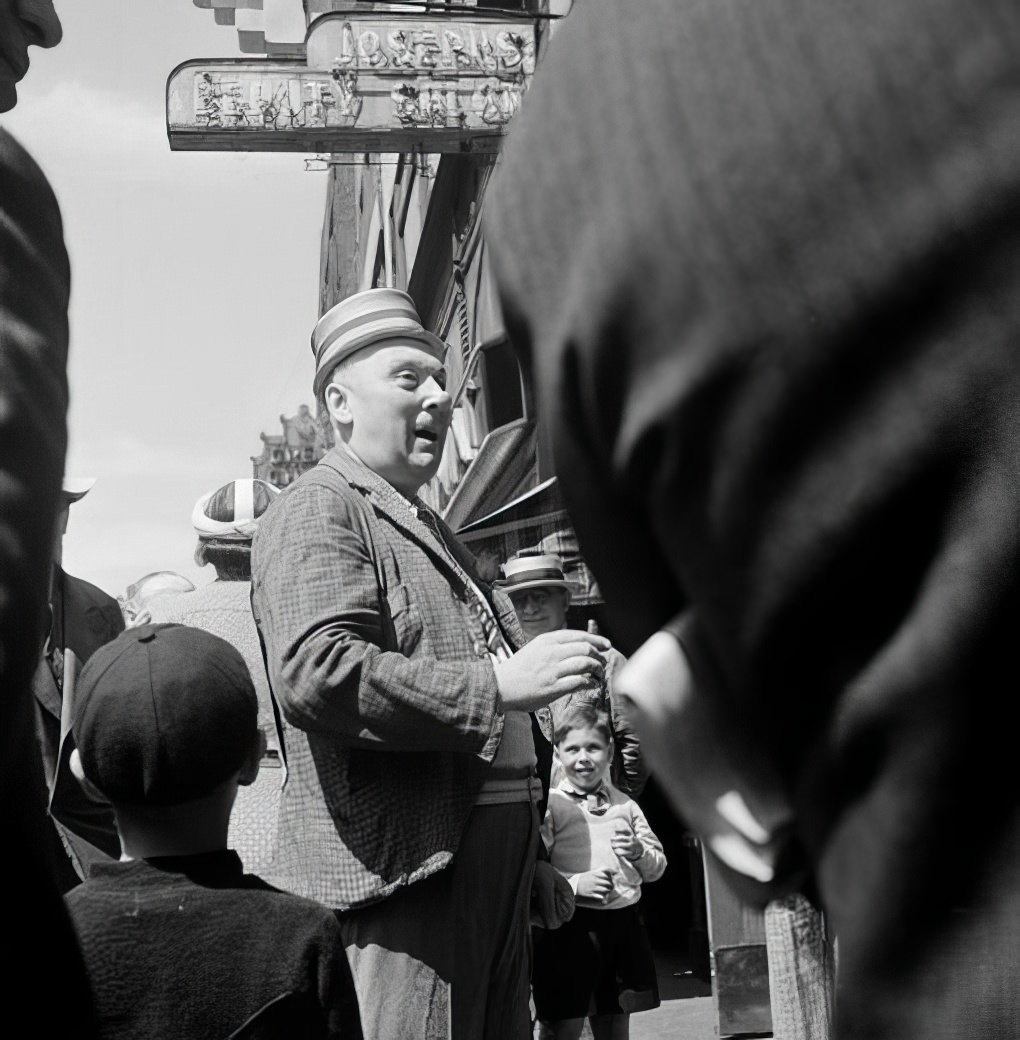
<instances>
[{"instance_id":1,"label":"open-mouthed man in striped hat and checked jacket","mask_svg":"<svg viewBox=\"0 0 1020 1040\"><path fill-rule=\"evenodd\" d=\"M523 1040L551 758L529 712L601 681L608 643L525 646L418 498L452 401L410 296L342 301L312 348L337 446L266 511L252 558L288 724L272 877L343 911L366 1037Z\"/></svg>"}]
</instances>

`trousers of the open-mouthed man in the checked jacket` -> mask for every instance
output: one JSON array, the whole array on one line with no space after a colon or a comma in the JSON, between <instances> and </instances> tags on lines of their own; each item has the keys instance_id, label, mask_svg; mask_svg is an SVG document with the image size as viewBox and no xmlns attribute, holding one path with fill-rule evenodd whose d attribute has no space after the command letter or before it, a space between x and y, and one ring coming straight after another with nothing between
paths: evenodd
<instances>
[{"instance_id":1,"label":"trousers of the open-mouthed man in the checked jacket","mask_svg":"<svg viewBox=\"0 0 1020 1040\"><path fill-rule=\"evenodd\" d=\"M365 1040L527 1040L533 805L480 806L444 870L339 915Z\"/></svg>"}]
</instances>

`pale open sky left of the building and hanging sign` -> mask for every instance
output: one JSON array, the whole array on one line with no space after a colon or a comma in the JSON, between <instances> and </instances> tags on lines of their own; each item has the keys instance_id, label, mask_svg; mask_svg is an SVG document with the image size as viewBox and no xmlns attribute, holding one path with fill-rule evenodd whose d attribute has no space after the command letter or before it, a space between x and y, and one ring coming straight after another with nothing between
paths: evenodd
<instances>
[{"instance_id":1,"label":"pale open sky left of the building and hanging sign","mask_svg":"<svg viewBox=\"0 0 1020 1040\"><path fill-rule=\"evenodd\" d=\"M252 475L260 432L312 404L325 175L299 154L171 152L166 77L240 57L191 0L56 0L0 115L60 203L71 255L64 567L111 595L151 571L197 584L195 500Z\"/></svg>"}]
</instances>

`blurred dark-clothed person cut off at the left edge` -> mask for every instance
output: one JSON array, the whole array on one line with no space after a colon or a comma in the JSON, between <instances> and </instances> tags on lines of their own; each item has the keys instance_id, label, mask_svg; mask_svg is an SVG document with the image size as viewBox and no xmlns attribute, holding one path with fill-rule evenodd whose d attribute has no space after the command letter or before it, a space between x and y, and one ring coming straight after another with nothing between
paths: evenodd
<instances>
[{"instance_id":1,"label":"blurred dark-clothed person cut off at the left edge","mask_svg":"<svg viewBox=\"0 0 1020 1040\"><path fill-rule=\"evenodd\" d=\"M51 3L29 9L0 0L0 112L14 107L28 45L59 38ZM67 448L70 281L53 191L0 130L0 811L4 887L18 903L0 965L11 994L36 992L43 964L59 980L59 999L33 1002L34 1033L94 1037L84 967L56 884L31 695Z\"/></svg>"}]
</instances>

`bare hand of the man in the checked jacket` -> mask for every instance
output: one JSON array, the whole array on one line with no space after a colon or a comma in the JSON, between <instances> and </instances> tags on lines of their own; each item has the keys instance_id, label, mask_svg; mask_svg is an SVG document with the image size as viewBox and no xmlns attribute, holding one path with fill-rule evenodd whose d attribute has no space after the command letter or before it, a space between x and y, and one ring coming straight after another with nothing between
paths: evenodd
<instances>
[{"instance_id":1,"label":"bare hand of the man in the checked jacket","mask_svg":"<svg viewBox=\"0 0 1020 1040\"><path fill-rule=\"evenodd\" d=\"M495 666L504 711L533 711L568 694L599 685L605 678L601 635L561 628L543 632Z\"/></svg>"}]
</instances>

